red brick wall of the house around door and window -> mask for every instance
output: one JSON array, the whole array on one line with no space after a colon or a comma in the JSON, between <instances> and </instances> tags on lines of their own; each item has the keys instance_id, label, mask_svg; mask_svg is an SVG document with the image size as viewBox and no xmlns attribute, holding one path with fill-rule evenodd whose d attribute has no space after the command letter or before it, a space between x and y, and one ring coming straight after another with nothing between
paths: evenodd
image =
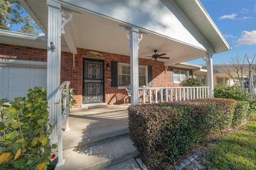
<instances>
[{"instance_id":1,"label":"red brick wall of the house around door and window","mask_svg":"<svg viewBox=\"0 0 256 170\"><path fill-rule=\"evenodd\" d=\"M17 45L0 44L0 57L23 59L33 61L46 61L47 51L46 49L37 49L30 47L22 47ZM70 88L73 89L77 104L75 107L82 105L82 55L87 51L93 51L90 49L78 48L78 54L75 55L75 67L73 66L73 55L71 53L61 52L61 83L63 81L70 81ZM106 53L97 51L105 57L106 65L111 61L117 61L118 63L130 64L130 56ZM165 73L164 62L154 62L154 59L146 61L146 59L139 58L139 65L152 65L153 74L153 87L176 87L178 84L170 83L170 67L168 67ZM177 70L180 69L174 68ZM110 71L105 69L105 99L107 104L117 104L127 102L127 92L125 89L118 89L118 87L110 87ZM108 97L109 96L109 97Z\"/></svg>"}]
</instances>

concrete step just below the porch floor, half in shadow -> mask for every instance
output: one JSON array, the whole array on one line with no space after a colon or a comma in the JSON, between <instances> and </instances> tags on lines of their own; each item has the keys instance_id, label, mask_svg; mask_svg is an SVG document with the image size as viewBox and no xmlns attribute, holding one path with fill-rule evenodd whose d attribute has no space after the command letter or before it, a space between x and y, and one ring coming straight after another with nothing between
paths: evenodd
<instances>
[{"instance_id":1,"label":"concrete step just below the porch floor, half in shadow","mask_svg":"<svg viewBox=\"0 0 256 170\"><path fill-rule=\"evenodd\" d=\"M52 163L56 164L58 152L54 152L53 154L56 154L56 157ZM133 146L129 134L123 134L63 150L63 159L65 159L64 165L55 169L101 170L114 164L125 168L125 164L129 164L127 161L121 163L122 165L118 165L118 163L136 157L138 157L138 152ZM129 164L128 167L134 169L138 168L137 164L134 163Z\"/></svg>"}]
</instances>

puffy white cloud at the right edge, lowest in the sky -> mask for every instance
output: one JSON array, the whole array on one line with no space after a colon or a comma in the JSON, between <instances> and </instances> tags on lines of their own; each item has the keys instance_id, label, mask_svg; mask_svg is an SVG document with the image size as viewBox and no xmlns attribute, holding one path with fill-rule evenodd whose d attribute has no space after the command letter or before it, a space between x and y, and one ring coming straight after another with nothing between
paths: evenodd
<instances>
[{"instance_id":1,"label":"puffy white cloud at the right edge, lowest in the sky","mask_svg":"<svg viewBox=\"0 0 256 170\"><path fill-rule=\"evenodd\" d=\"M256 30L252 30L251 32L242 31L242 38L238 38L236 43L238 43L238 46L256 44Z\"/></svg>"}]
</instances>

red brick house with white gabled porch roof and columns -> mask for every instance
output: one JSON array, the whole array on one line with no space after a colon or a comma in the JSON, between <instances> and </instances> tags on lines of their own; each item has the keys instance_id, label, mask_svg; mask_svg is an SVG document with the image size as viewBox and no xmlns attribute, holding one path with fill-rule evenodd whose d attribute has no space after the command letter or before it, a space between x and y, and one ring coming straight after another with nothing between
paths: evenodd
<instances>
[{"instance_id":1,"label":"red brick house with white gabled porch roof and columns","mask_svg":"<svg viewBox=\"0 0 256 170\"><path fill-rule=\"evenodd\" d=\"M173 65L204 57L211 97L212 55L231 49L199 0L20 3L47 35L47 45L10 45L13 43L4 42L1 35L1 53L10 49L1 58L46 61L47 55L46 87L52 125L60 107L54 104L54 92L63 81L71 82L79 106L124 103L128 85L131 104L136 105L139 87L176 86L200 67ZM38 56L26 57L31 53ZM56 128L51 135L56 141Z\"/></svg>"}]
</instances>

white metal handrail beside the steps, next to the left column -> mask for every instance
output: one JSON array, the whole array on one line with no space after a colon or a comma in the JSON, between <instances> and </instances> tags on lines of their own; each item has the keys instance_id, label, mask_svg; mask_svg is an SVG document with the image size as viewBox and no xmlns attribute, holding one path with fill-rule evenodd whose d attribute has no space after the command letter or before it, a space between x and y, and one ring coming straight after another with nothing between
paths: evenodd
<instances>
[{"instance_id":1,"label":"white metal handrail beside the steps, next to the left column","mask_svg":"<svg viewBox=\"0 0 256 170\"><path fill-rule=\"evenodd\" d=\"M62 148L62 123L66 118L66 129L65 131L70 130L69 128L69 85L70 81L64 81L54 98L54 104L59 104L63 101L62 105L64 107L64 111L60 114L57 114L57 132L58 132L58 164L63 165L65 160L63 160L63 148ZM66 86L66 99L62 99L63 96L63 89ZM61 110L61 109L60 109ZM58 164L56 166L58 166Z\"/></svg>"}]
</instances>

